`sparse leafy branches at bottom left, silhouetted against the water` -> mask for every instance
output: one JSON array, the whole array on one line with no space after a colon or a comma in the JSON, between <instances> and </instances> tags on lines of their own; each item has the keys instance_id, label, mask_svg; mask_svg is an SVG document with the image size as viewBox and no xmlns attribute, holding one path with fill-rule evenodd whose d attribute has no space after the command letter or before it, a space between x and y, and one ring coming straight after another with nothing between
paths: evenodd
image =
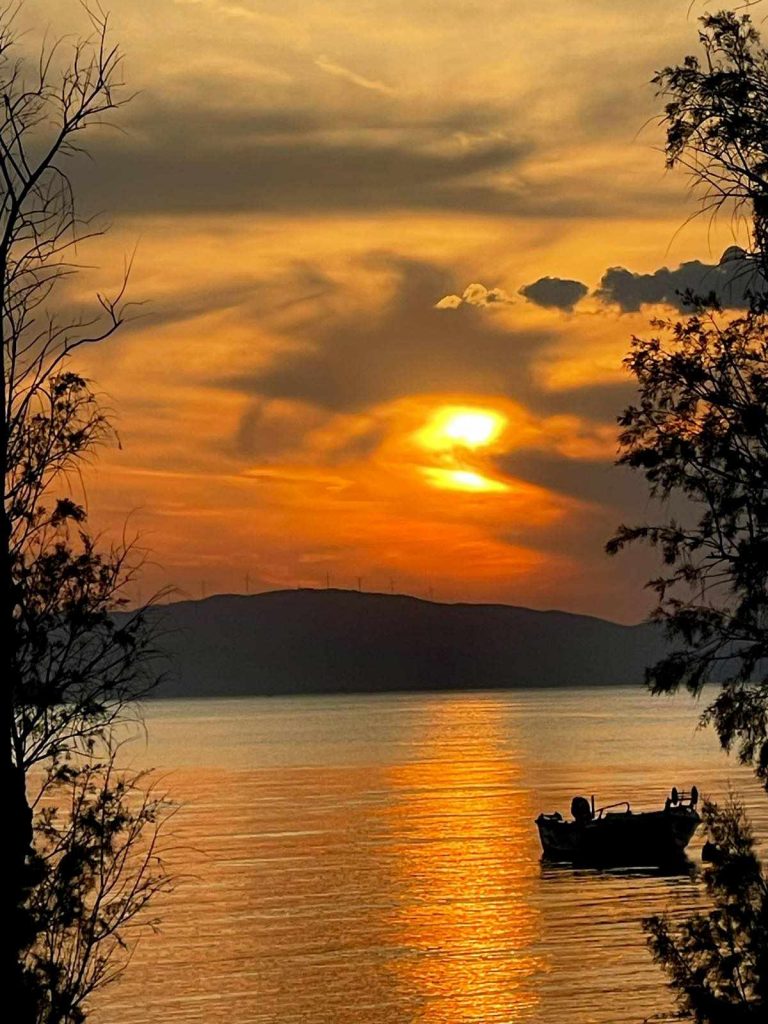
<instances>
[{"instance_id":1,"label":"sparse leafy branches at bottom left, silhouetted against the water","mask_svg":"<svg viewBox=\"0 0 768 1024\"><path fill-rule=\"evenodd\" d=\"M49 761L36 809L25 980L45 1024L86 1020L88 997L125 966L136 915L170 885L158 854L167 801L104 753L78 766Z\"/></svg>"}]
</instances>

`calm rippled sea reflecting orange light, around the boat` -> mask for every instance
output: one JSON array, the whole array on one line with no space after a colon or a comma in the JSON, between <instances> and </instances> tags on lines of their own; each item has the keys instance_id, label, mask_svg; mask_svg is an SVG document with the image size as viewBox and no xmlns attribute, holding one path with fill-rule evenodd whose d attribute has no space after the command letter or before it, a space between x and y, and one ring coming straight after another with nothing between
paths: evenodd
<instances>
[{"instance_id":1,"label":"calm rippled sea reflecting orange light, around the boat","mask_svg":"<svg viewBox=\"0 0 768 1024\"><path fill-rule=\"evenodd\" d=\"M768 839L690 700L639 689L169 700L146 725L179 881L96 1024L640 1022L671 1005L641 919L699 888L543 867L534 818L730 784Z\"/></svg>"}]
</instances>

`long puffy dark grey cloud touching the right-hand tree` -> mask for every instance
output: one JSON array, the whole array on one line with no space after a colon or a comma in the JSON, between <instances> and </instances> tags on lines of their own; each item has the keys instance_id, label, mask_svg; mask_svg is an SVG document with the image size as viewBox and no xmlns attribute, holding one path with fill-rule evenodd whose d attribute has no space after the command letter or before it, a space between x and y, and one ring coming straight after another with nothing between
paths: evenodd
<instances>
[{"instance_id":1,"label":"long puffy dark grey cloud touching the right-hand tree","mask_svg":"<svg viewBox=\"0 0 768 1024\"><path fill-rule=\"evenodd\" d=\"M595 296L603 302L615 303L624 312L636 312L646 303L666 303L681 311L686 306L685 295L715 295L721 305L743 309L750 293L762 292L765 283L740 250L726 250L719 263L691 260L674 270L663 266L653 273L633 273L622 266L610 267L602 276Z\"/></svg>"}]
</instances>

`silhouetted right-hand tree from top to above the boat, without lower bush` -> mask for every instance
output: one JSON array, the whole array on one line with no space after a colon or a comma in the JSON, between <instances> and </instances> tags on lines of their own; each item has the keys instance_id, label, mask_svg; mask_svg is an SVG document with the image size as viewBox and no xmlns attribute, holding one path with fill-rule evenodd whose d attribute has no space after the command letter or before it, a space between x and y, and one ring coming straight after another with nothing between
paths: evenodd
<instances>
[{"instance_id":1,"label":"silhouetted right-hand tree from top to above the boat, without lower bush","mask_svg":"<svg viewBox=\"0 0 768 1024\"><path fill-rule=\"evenodd\" d=\"M701 19L703 57L660 72L667 97L667 157L683 164L708 203L746 204L752 260L768 264L763 203L768 200L768 55L748 15ZM706 718L723 745L768 784L768 321L765 281L752 308L728 317L707 297L688 296L691 314L656 321L634 339L626 365L639 400L620 419L620 463L644 473L666 504L657 523L622 526L615 553L644 541L660 549L651 581L654 617L676 648L649 674L655 692L685 685L698 694L721 683ZM682 499L678 514L673 499Z\"/></svg>"}]
</instances>

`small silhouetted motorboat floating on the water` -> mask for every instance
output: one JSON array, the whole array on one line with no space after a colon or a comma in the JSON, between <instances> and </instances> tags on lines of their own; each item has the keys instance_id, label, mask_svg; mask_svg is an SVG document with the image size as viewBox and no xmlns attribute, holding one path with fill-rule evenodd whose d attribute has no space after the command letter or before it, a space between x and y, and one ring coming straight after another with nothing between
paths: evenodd
<instances>
[{"instance_id":1,"label":"small silhouetted motorboat floating on the water","mask_svg":"<svg viewBox=\"0 0 768 1024\"><path fill-rule=\"evenodd\" d=\"M536 819L544 858L573 864L660 867L679 861L701 821L698 790L673 786L660 811L635 813L627 801L595 809L595 798L574 797L571 821L559 813Z\"/></svg>"}]
</instances>

